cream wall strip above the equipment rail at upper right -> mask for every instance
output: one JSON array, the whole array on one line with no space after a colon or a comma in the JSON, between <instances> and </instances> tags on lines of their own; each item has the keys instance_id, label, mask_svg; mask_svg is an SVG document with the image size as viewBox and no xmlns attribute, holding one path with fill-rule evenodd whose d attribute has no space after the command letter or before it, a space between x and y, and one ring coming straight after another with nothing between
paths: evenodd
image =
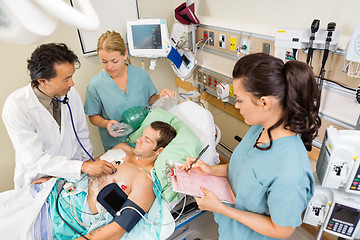
<instances>
[{"instance_id":1,"label":"cream wall strip above the equipment rail at upper right","mask_svg":"<svg viewBox=\"0 0 360 240\"><path fill-rule=\"evenodd\" d=\"M271 29L279 26L310 28L312 21L320 20L320 28L326 28L329 22L336 23L341 34L351 35L356 23L360 22L357 0L196 0L196 13L219 21L232 21L261 25ZM229 27L229 26L223 26ZM275 34L275 33L274 33Z\"/></svg>"}]
</instances>

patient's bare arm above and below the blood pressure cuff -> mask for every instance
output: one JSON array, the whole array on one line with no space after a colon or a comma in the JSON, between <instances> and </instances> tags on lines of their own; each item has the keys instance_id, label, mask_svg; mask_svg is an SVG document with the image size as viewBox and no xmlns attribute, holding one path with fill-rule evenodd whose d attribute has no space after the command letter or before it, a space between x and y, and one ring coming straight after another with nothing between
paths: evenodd
<instances>
[{"instance_id":1,"label":"patient's bare arm above and below the blood pressure cuff","mask_svg":"<svg viewBox=\"0 0 360 240\"><path fill-rule=\"evenodd\" d=\"M137 174L131 183L131 192L129 199L140 206L145 212L151 208L155 195L152 190L152 181L145 172ZM85 237L89 239L120 239L125 234L125 230L116 222L111 222L88 234ZM78 238L79 240L84 238Z\"/></svg>"}]
</instances>

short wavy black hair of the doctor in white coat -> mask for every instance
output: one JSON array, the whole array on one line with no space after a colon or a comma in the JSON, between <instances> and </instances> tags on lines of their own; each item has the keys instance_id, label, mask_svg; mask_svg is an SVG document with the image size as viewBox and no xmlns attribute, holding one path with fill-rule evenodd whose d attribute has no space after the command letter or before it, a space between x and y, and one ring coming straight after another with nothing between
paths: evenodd
<instances>
[{"instance_id":1,"label":"short wavy black hair of the doctor in white coat","mask_svg":"<svg viewBox=\"0 0 360 240\"><path fill-rule=\"evenodd\" d=\"M27 60L27 69L30 71L31 86L37 87L40 78L49 80L56 77L55 64L74 63L80 67L76 54L64 43L48 43L38 46Z\"/></svg>"}]
</instances>

